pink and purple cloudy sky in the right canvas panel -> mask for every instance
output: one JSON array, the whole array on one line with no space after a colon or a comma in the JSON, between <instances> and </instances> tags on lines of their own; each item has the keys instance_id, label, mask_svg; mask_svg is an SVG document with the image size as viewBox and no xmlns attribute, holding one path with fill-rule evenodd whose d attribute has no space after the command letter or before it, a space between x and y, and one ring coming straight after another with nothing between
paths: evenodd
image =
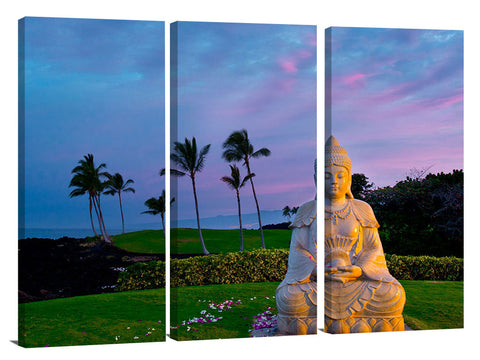
<instances>
[{"instance_id":1,"label":"pink and purple cloudy sky in the right canvas panel","mask_svg":"<svg viewBox=\"0 0 480 360\"><path fill-rule=\"evenodd\" d=\"M411 169L463 169L463 31L326 34L325 136L346 148L352 173L382 187Z\"/></svg>"}]
</instances>

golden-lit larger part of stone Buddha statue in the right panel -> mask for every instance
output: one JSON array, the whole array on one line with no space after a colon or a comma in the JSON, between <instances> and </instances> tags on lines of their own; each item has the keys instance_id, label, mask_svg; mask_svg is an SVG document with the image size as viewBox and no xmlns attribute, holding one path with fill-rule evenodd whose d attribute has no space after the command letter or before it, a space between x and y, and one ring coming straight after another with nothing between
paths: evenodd
<instances>
[{"instance_id":1,"label":"golden-lit larger part of stone Buddha statue in the right panel","mask_svg":"<svg viewBox=\"0 0 480 360\"><path fill-rule=\"evenodd\" d=\"M405 291L390 275L367 203L353 198L351 161L331 136L325 147L325 331L404 330Z\"/></svg>"}]
</instances>

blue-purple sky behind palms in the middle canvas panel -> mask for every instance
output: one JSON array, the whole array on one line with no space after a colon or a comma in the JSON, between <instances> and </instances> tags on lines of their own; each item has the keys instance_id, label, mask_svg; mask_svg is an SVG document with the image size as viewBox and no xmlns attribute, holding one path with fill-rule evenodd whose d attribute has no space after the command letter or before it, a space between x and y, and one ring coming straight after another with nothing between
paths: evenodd
<instances>
[{"instance_id":1,"label":"blue-purple sky behind palms in the middle canvas panel","mask_svg":"<svg viewBox=\"0 0 480 360\"><path fill-rule=\"evenodd\" d=\"M178 117L172 128L178 134L171 142L195 137L199 147L211 145L196 177L200 217L237 214L235 192L220 178L230 176L222 144L241 129L247 130L254 150L271 151L251 161L261 210L313 200L316 27L179 22L171 31L178 39L172 48L178 56ZM246 169L237 165L243 178ZM195 218L190 179L172 180L178 184L174 213L179 219ZM240 197L242 213L255 213L249 184Z\"/></svg>"}]
</instances>

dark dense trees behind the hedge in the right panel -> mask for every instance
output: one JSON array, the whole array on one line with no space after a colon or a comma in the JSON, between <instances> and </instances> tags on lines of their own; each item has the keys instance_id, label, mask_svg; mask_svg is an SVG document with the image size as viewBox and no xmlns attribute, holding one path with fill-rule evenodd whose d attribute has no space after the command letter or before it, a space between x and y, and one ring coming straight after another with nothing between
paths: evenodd
<instances>
[{"instance_id":1,"label":"dark dense trees behind the hedge in the right panel","mask_svg":"<svg viewBox=\"0 0 480 360\"><path fill-rule=\"evenodd\" d=\"M352 193L373 208L385 253L463 257L463 170L372 187L353 174Z\"/></svg>"}]
</instances>

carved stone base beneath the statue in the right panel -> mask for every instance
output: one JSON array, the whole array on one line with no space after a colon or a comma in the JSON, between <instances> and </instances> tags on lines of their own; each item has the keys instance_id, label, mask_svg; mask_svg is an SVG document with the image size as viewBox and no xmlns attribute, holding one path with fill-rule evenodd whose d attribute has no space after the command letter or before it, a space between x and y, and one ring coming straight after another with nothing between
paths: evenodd
<instances>
[{"instance_id":1,"label":"carved stone base beneath the statue in the right panel","mask_svg":"<svg viewBox=\"0 0 480 360\"><path fill-rule=\"evenodd\" d=\"M335 320L325 316L325 332L348 334L362 332L404 331L403 316L396 317L354 317Z\"/></svg>"}]
</instances>

